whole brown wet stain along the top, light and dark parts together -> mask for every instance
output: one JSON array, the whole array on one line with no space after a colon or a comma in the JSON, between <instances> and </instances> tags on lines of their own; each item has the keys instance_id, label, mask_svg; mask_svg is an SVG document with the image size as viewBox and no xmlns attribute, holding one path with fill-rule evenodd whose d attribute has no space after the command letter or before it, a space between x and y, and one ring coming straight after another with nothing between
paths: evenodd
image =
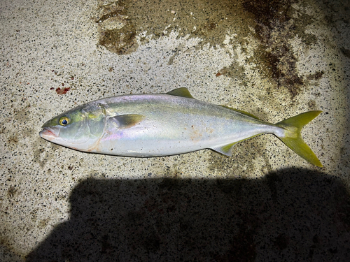
<instances>
[{"instance_id":1,"label":"whole brown wet stain along the top, light and dark parts together","mask_svg":"<svg viewBox=\"0 0 350 262\"><path fill-rule=\"evenodd\" d=\"M258 40L251 57L263 78L274 80L274 88L288 92L295 99L304 88L304 79L297 72L297 57L290 44L296 35L303 43L316 43L315 36L306 34L305 28L312 17L298 11L297 19L287 0L221 0L221 1L102 1L93 18L99 24L99 45L117 54L137 50L136 36L146 31L148 36L159 38L178 31L179 37L202 39L200 48L209 43L223 47L228 34L236 34L239 45L248 36ZM171 7L171 8L169 8ZM247 43L249 45L249 43ZM170 63L171 64L171 63ZM237 66L223 68L218 75L237 75ZM239 71L240 75L243 75Z\"/></svg>"}]
</instances>

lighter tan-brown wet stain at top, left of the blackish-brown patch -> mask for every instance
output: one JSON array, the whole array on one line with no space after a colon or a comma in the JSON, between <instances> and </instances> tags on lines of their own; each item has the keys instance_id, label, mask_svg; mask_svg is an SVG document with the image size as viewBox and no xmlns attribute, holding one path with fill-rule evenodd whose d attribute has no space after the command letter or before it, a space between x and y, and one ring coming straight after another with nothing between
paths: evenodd
<instances>
[{"instance_id":1,"label":"lighter tan-brown wet stain at top, left of the blackish-brown patch","mask_svg":"<svg viewBox=\"0 0 350 262\"><path fill-rule=\"evenodd\" d=\"M171 7L171 9L169 9ZM200 37L202 44L222 45L228 29L248 29L241 21L239 1L99 1L97 15L99 44L111 52L127 54L137 48L141 32L153 38L179 31L179 37Z\"/></svg>"}]
</instances>

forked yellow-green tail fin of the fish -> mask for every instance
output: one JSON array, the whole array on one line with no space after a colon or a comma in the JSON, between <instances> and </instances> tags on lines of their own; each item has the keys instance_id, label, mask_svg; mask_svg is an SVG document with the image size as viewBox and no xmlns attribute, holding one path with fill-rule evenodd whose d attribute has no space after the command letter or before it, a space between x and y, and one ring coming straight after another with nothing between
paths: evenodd
<instances>
[{"instance_id":1,"label":"forked yellow-green tail fin of the fish","mask_svg":"<svg viewBox=\"0 0 350 262\"><path fill-rule=\"evenodd\" d=\"M316 110L303 112L276 124L276 126L285 130L284 136L277 136L284 144L309 163L320 167L322 167L322 163L318 160L316 154L312 152L311 148L302 140L301 131L306 124L311 122L321 112Z\"/></svg>"}]
</instances>

